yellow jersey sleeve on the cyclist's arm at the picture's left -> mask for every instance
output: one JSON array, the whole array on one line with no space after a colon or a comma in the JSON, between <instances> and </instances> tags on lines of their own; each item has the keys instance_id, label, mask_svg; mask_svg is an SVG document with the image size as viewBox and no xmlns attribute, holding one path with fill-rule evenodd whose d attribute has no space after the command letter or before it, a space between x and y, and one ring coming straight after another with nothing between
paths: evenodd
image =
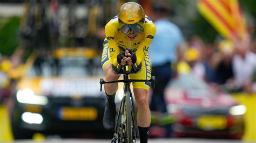
<instances>
[{"instance_id":1,"label":"yellow jersey sleeve on the cyclist's arm at the picture's left","mask_svg":"<svg viewBox=\"0 0 256 143\"><path fill-rule=\"evenodd\" d=\"M105 26L105 34L107 42L109 43L109 52L112 64L117 66L117 55L119 54L119 48L116 41L116 30L113 28L114 25L107 23Z\"/></svg>"}]
</instances>

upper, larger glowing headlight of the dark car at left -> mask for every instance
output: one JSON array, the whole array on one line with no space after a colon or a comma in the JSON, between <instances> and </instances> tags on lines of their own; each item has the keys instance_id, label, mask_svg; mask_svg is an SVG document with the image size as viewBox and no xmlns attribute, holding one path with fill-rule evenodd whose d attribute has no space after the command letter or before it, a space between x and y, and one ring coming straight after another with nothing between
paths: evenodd
<instances>
[{"instance_id":1,"label":"upper, larger glowing headlight of the dark car at left","mask_svg":"<svg viewBox=\"0 0 256 143\"><path fill-rule=\"evenodd\" d=\"M16 95L19 103L46 105L48 98L42 95L35 95L31 89L18 90Z\"/></svg>"}]
</instances>

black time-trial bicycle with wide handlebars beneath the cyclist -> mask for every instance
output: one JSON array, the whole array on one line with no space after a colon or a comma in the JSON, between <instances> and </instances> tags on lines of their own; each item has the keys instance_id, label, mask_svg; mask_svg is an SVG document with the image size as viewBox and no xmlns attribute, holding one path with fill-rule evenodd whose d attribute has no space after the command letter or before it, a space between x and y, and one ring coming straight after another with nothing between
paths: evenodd
<instances>
[{"instance_id":1,"label":"black time-trial bicycle with wide handlebars beneath the cyclist","mask_svg":"<svg viewBox=\"0 0 256 143\"><path fill-rule=\"evenodd\" d=\"M127 69L127 68L125 68ZM116 118L116 126L114 128L114 137L112 142L135 142L136 138L139 138L139 130L137 125L137 110L136 104L134 103L134 95L132 94L130 84L131 82L152 82L152 87L154 88L154 76L151 80L131 80L129 79L129 74L131 71L125 70L123 73L124 79L118 81L105 82L103 78L100 78L100 91L102 91L102 84L105 83L124 83L124 96L120 103Z\"/></svg>"}]
</instances>

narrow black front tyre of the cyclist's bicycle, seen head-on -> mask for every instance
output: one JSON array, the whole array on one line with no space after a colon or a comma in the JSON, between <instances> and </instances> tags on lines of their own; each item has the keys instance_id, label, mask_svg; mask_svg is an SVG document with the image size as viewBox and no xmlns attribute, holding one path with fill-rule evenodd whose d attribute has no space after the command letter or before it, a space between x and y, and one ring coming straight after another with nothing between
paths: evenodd
<instances>
[{"instance_id":1,"label":"narrow black front tyre of the cyclist's bicycle, seen head-on","mask_svg":"<svg viewBox=\"0 0 256 143\"><path fill-rule=\"evenodd\" d=\"M132 143L132 115L131 115L131 99L130 92L126 92L126 132L127 132L127 142Z\"/></svg>"}]
</instances>

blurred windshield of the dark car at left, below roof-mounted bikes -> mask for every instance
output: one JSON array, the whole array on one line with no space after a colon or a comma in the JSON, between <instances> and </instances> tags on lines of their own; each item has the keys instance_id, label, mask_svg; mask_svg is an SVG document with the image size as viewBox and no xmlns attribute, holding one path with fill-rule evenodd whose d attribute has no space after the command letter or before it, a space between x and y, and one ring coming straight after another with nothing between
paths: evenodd
<instances>
[{"instance_id":1,"label":"blurred windshield of the dark car at left, below roof-mounted bikes","mask_svg":"<svg viewBox=\"0 0 256 143\"><path fill-rule=\"evenodd\" d=\"M29 77L82 77L103 75L98 59L87 59L83 56L63 58L37 57L28 72Z\"/></svg>"}]
</instances>

